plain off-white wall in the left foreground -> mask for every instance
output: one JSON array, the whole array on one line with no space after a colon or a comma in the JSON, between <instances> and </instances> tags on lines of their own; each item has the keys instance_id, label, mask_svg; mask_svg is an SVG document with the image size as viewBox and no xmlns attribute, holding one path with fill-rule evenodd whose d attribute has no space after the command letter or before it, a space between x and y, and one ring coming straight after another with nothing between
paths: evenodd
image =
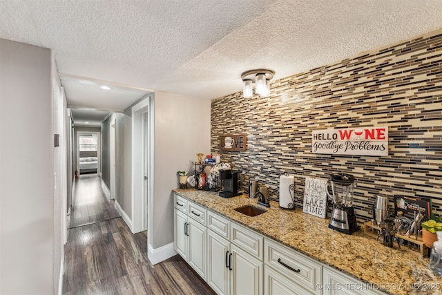
<instances>
[{"instance_id":1,"label":"plain off-white wall in the left foreground","mask_svg":"<svg viewBox=\"0 0 442 295\"><path fill-rule=\"evenodd\" d=\"M51 52L0 39L0 64L0 294L54 294Z\"/></svg>"}]
</instances>

